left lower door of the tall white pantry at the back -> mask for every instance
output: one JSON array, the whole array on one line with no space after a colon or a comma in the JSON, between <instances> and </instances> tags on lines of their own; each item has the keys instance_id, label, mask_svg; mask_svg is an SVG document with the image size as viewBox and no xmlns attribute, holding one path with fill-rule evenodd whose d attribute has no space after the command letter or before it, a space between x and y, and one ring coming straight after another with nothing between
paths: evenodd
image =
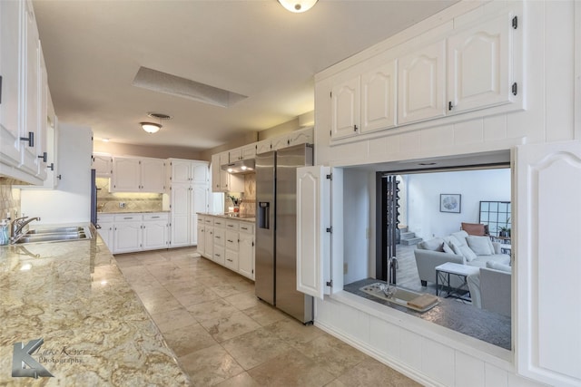
<instances>
[{"instance_id":1,"label":"left lower door of the tall white pantry at the back","mask_svg":"<svg viewBox=\"0 0 581 387\"><path fill-rule=\"evenodd\" d=\"M191 245L191 195L192 189L188 184L172 185L172 247Z\"/></svg>"}]
</instances>

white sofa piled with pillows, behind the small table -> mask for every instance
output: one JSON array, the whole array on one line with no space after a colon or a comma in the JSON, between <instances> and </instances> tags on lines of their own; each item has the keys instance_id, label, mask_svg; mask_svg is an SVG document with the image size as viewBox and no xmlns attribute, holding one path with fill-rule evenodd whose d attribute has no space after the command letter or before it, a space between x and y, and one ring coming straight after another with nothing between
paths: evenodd
<instances>
[{"instance_id":1,"label":"white sofa piled with pillows, behind the small table","mask_svg":"<svg viewBox=\"0 0 581 387\"><path fill-rule=\"evenodd\" d=\"M499 243L492 242L486 236L470 236L466 231L420 242L414 256L423 286L436 282L436 266L446 262L478 267L486 267L488 261L510 265L510 256L501 253ZM451 277L450 282L453 286L461 285L456 276Z\"/></svg>"}]
</instances>

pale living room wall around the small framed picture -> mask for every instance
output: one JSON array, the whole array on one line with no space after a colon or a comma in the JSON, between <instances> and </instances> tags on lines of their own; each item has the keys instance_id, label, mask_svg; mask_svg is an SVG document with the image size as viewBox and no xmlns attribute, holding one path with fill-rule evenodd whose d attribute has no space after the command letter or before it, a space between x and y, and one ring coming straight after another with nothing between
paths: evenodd
<instances>
[{"instance_id":1,"label":"pale living room wall around the small framed picture","mask_svg":"<svg viewBox=\"0 0 581 387\"><path fill-rule=\"evenodd\" d=\"M478 223L480 200L510 201L510 169L482 169L407 175L409 231L445 237L462 222ZM440 212L440 194L460 194L460 213Z\"/></svg>"}]
</instances>

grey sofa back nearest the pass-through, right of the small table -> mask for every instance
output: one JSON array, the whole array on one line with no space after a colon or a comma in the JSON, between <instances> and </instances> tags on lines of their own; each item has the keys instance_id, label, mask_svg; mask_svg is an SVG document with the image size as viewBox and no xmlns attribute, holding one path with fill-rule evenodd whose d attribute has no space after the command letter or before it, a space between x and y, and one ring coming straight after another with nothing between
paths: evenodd
<instances>
[{"instance_id":1,"label":"grey sofa back nearest the pass-through, right of the small table","mask_svg":"<svg viewBox=\"0 0 581 387\"><path fill-rule=\"evenodd\" d=\"M472 305L510 316L510 279L512 267L487 262L478 274L467 278Z\"/></svg>"}]
</instances>

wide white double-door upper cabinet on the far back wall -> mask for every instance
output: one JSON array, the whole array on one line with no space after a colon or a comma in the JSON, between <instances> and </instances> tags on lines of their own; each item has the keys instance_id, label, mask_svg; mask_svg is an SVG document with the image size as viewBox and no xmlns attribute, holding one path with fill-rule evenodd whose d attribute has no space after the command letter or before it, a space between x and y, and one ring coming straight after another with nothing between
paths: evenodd
<instances>
[{"instance_id":1,"label":"wide white double-door upper cabinet on the far back wall","mask_svg":"<svg viewBox=\"0 0 581 387\"><path fill-rule=\"evenodd\" d=\"M112 192L158 192L165 190L165 160L114 157Z\"/></svg>"}]
</instances>

